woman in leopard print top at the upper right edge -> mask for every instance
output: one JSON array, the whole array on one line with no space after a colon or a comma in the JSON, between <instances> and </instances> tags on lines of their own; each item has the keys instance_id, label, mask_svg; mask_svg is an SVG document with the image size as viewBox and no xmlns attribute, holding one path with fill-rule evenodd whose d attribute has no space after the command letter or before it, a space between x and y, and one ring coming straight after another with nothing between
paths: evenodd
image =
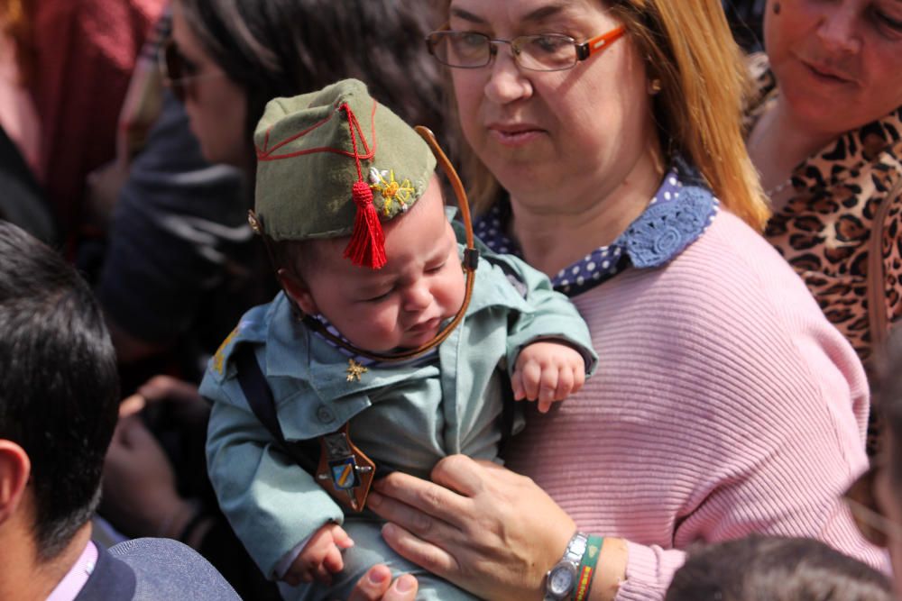
<instances>
[{"instance_id":1,"label":"woman in leopard print top at the upper right edge","mask_svg":"<svg viewBox=\"0 0 902 601\"><path fill-rule=\"evenodd\" d=\"M765 236L870 369L902 314L902 5L769 0L764 42L746 145Z\"/></svg>"}]
</instances>

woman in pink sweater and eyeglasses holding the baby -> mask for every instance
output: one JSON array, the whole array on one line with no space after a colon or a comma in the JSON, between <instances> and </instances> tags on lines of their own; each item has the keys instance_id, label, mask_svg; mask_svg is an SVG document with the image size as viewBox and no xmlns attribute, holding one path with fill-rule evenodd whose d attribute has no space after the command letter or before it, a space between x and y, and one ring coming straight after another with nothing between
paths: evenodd
<instances>
[{"instance_id":1,"label":"woman in pink sweater and eyeglasses holding the baby","mask_svg":"<svg viewBox=\"0 0 902 601\"><path fill-rule=\"evenodd\" d=\"M759 234L720 2L442 7L429 45L477 233L571 296L600 360L570 402L527 412L510 470L455 456L434 482L377 482L386 542L488 598L662 599L692 542L749 533L885 568L839 499L867 467L867 381Z\"/></svg>"}]
</instances>

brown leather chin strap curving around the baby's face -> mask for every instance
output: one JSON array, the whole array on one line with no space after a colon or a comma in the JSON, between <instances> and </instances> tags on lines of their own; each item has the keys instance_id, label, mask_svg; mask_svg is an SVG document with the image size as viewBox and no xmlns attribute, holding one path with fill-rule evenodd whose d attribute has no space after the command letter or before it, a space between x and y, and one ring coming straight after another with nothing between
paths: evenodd
<instances>
[{"instance_id":1,"label":"brown leather chin strap curving around the baby's face","mask_svg":"<svg viewBox=\"0 0 902 601\"><path fill-rule=\"evenodd\" d=\"M345 339L336 336L332 332L329 332L326 326L324 326L323 323L315 317L304 314L300 311L299 307L295 307L300 315L301 321L312 331L317 332L328 341L332 341L334 344L336 344L336 346L340 346L347 351L351 351L352 353L354 353L354 355L366 357L367 359L372 360L409 360L436 348L439 344L444 342L446 338L451 335L451 332L454 332L454 329L457 327L457 325L459 325L463 321L466 309L470 305L470 297L473 296L473 285L476 279L476 266L479 263L479 251L474 247L473 222L470 217L470 205L466 198L464 185L461 183L460 178L457 176L457 171L451 164L451 161L448 160L445 152L438 145L435 135L433 135L433 133L429 131L428 128L423 127L422 125L417 125L414 129L429 145L429 149L432 150L432 153L436 156L438 164L441 165L442 170L445 172L446 178L448 178L448 180L451 182L451 187L454 188L455 196L457 197L457 207L458 209L460 209L461 216L464 219L464 225L466 229L466 248L464 250L464 259L461 261L461 265L466 272L466 290L464 295L464 302L462 305L460 305L460 309L457 310L454 319L452 319L444 328L442 328L442 330L436 334L435 338L433 338L431 341L426 342L425 344L420 345L416 349L410 349L409 351L400 352L374 352L364 351L364 349L357 348L349 341L346 341ZM249 221L251 222L251 226L254 232L262 232L262 224L259 222L259 218L255 214L253 214L253 211L251 211L249 214ZM265 242L266 248L269 251L270 259L273 260L273 267L278 269L275 265L274 256L270 248L270 240L265 234L263 234L263 241ZM287 293L286 296L288 296Z\"/></svg>"}]
</instances>

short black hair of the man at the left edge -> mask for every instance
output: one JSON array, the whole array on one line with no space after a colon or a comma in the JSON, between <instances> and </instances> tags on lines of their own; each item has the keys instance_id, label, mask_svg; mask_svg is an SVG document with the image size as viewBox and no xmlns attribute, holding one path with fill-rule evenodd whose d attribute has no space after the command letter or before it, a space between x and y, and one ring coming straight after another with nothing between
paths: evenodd
<instances>
[{"instance_id":1,"label":"short black hair of the man at the left edge","mask_svg":"<svg viewBox=\"0 0 902 601\"><path fill-rule=\"evenodd\" d=\"M115 351L91 289L56 252L0 221L0 438L32 462L43 559L97 508L118 401Z\"/></svg>"}]
</instances>

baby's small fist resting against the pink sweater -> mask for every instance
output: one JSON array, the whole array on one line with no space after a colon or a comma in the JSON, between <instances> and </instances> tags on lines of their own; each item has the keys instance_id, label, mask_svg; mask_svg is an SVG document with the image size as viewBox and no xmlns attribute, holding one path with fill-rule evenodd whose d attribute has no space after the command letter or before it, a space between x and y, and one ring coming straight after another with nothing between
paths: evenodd
<instances>
[{"instance_id":1,"label":"baby's small fist resting against the pink sweater","mask_svg":"<svg viewBox=\"0 0 902 601\"><path fill-rule=\"evenodd\" d=\"M558 342L533 342L520 351L513 370L513 397L538 400L543 414L583 387L585 362L575 349Z\"/></svg>"}]
</instances>

